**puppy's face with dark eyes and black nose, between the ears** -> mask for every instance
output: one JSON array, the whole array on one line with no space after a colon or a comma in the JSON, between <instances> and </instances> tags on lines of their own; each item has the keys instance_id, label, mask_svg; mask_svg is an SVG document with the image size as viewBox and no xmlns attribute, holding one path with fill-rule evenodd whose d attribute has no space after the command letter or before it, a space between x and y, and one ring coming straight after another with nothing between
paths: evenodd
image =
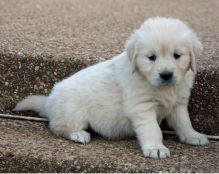
<instances>
[{"instance_id":1,"label":"puppy's face with dark eyes and black nose, between the ears","mask_svg":"<svg viewBox=\"0 0 219 174\"><path fill-rule=\"evenodd\" d=\"M149 35L139 42L136 68L154 86L178 84L191 68L189 48L173 35Z\"/></svg>"}]
</instances>

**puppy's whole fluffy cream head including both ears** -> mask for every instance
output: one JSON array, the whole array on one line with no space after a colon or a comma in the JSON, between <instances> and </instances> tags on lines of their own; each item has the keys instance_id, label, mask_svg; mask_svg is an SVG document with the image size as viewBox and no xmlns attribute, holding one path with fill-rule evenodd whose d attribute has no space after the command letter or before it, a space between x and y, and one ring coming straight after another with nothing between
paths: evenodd
<instances>
[{"instance_id":1,"label":"puppy's whole fluffy cream head including both ears","mask_svg":"<svg viewBox=\"0 0 219 174\"><path fill-rule=\"evenodd\" d=\"M187 71L196 73L195 57L202 51L196 34L173 18L146 20L126 42L133 72L153 86L179 84Z\"/></svg>"}]
</instances>

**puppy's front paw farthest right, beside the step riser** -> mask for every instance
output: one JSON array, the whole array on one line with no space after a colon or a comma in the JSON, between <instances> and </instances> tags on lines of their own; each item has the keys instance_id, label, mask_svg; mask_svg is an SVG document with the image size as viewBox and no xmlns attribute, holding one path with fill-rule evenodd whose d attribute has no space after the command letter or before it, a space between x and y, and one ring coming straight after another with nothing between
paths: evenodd
<instances>
[{"instance_id":1,"label":"puppy's front paw farthest right, beside the step riser","mask_svg":"<svg viewBox=\"0 0 219 174\"><path fill-rule=\"evenodd\" d=\"M208 138L206 135L194 131L192 134L180 137L181 142L191 145L204 146L208 144Z\"/></svg>"}]
</instances>

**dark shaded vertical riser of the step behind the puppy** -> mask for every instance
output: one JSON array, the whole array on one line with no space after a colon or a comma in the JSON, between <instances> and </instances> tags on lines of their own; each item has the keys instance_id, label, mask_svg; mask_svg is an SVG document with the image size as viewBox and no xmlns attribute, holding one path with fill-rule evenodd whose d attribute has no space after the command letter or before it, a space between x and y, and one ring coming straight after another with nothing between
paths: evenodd
<instances>
[{"instance_id":1,"label":"dark shaded vertical riser of the step behind the puppy","mask_svg":"<svg viewBox=\"0 0 219 174\"><path fill-rule=\"evenodd\" d=\"M43 59L19 55L0 55L1 65L1 113L13 113L11 109L27 95L47 95L59 80L99 60L87 59ZM190 117L195 129L206 134L219 134L219 72L217 68L206 68L198 72L189 104Z\"/></svg>"}]
</instances>

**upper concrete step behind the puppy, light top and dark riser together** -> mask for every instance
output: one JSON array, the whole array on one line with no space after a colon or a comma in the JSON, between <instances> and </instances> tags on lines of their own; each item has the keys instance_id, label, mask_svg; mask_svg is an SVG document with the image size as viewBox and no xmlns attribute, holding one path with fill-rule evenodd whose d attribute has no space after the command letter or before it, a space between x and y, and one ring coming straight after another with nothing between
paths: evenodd
<instances>
[{"instance_id":1,"label":"upper concrete step behind the puppy, light top and dark riser together","mask_svg":"<svg viewBox=\"0 0 219 174\"><path fill-rule=\"evenodd\" d=\"M60 79L122 52L146 18L171 16L194 28L204 45L189 106L193 125L219 134L218 0L1 0L0 6L1 113L11 113L26 95L48 94Z\"/></svg>"}]
</instances>

